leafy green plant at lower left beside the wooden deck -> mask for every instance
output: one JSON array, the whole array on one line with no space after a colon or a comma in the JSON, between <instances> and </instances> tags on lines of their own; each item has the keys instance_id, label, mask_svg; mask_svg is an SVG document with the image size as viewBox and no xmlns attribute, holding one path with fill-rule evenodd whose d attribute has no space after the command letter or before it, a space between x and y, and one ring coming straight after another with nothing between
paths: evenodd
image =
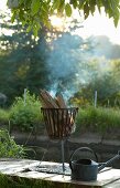
<instances>
[{"instance_id":1,"label":"leafy green plant at lower left beside the wooden deck","mask_svg":"<svg viewBox=\"0 0 120 188\"><path fill-rule=\"evenodd\" d=\"M23 146L17 145L7 129L0 129L0 157L22 158L24 156Z\"/></svg>"}]
</instances>

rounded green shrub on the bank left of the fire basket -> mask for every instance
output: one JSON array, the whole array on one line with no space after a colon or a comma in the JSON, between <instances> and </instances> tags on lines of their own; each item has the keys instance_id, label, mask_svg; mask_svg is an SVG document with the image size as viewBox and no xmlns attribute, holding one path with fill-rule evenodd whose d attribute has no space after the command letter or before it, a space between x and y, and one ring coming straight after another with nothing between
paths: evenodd
<instances>
[{"instance_id":1,"label":"rounded green shrub on the bank left of the fire basket","mask_svg":"<svg viewBox=\"0 0 120 188\"><path fill-rule=\"evenodd\" d=\"M35 95L26 91L26 97L17 97L11 111L10 122L12 126L18 126L22 130L31 130L42 121L41 103Z\"/></svg>"}]
</instances>

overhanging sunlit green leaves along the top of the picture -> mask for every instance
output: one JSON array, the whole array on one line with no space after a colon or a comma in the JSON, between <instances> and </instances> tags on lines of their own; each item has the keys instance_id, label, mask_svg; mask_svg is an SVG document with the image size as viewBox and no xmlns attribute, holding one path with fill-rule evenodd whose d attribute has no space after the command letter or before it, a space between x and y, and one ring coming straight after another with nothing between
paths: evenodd
<instances>
[{"instance_id":1,"label":"overhanging sunlit green leaves along the top of the picture","mask_svg":"<svg viewBox=\"0 0 120 188\"><path fill-rule=\"evenodd\" d=\"M109 18L113 19L114 25L118 25L120 15L120 0L8 0L8 7L12 10L12 22L19 18L23 25L28 25L28 31L33 30L34 35L42 25L50 27L50 15L57 13L58 15L72 15L73 9L84 12L87 19L94 14L96 8L105 12Z\"/></svg>"}]
</instances>

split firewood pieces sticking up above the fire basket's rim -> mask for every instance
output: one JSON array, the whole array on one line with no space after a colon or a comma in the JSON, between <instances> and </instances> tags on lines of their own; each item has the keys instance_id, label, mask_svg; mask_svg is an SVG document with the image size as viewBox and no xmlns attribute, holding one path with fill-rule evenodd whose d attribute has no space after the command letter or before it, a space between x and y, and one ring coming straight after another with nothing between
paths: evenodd
<instances>
[{"instance_id":1,"label":"split firewood pieces sticking up above the fire basket's rim","mask_svg":"<svg viewBox=\"0 0 120 188\"><path fill-rule=\"evenodd\" d=\"M57 94L54 98L45 90L41 90L40 100L43 107L46 108L67 108L62 94Z\"/></svg>"}]
</instances>

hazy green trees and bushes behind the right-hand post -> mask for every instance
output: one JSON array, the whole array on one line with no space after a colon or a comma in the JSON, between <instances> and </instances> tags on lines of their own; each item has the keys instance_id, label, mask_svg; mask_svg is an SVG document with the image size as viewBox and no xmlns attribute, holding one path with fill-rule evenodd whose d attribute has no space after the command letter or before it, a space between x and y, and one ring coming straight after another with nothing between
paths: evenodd
<instances>
[{"instance_id":1,"label":"hazy green trees and bushes behind the right-hand post","mask_svg":"<svg viewBox=\"0 0 120 188\"><path fill-rule=\"evenodd\" d=\"M97 91L98 104L120 106L120 60L108 62L109 70L101 73L99 65L91 65L90 63L90 66L92 75L89 82L79 86L80 90L69 98L69 103L77 105L94 104L95 91Z\"/></svg>"}]
</instances>

